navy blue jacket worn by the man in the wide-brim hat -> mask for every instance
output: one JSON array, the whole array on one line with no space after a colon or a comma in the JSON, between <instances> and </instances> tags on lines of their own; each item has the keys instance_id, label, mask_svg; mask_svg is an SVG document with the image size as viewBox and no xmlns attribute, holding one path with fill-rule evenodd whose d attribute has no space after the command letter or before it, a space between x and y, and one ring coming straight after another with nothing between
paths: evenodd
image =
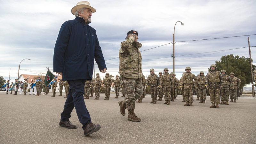
<instances>
[{"instance_id":1,"label":"navy blue jacket worn by the man in the wide-brim hat","mask_svg":"<svg viewBox=\"0 0 256 144\"><path fill-rule=\"evenodd\" d=\"M94 59L98 68L107 68L96 31L81 17L64 22L53 54L53 71L62 72L62 80L92 80Z\"/></svg>"}]
</instances>

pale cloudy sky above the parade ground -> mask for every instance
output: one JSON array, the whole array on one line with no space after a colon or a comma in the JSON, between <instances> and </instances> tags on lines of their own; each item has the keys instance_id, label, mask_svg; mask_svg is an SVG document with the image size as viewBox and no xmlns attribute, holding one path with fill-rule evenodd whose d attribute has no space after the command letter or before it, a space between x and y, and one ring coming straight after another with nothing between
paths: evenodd
<instances>
[{"instance_id":1,"label":"pale cloudy sky above the parade ground","mask_svg":"<svg viewBox=\"0 0 256 144\"><path fill-rule=\"evenodd\" d=\"M75 18L71 8L77 2L1 0L0 76L8 79L11 68L11 81L14 81L20 61L26 58L31 60L21 62L20 74L38 75L47 71L45 67L53 69L53 50L60 26ZM129 30L138 31L138 41L143 45L140 51L166 44L141 52L143 74L149 75L150 68L158 74L164 68L169 68L169 72L173 69L172 44L168 43L172 42L175 23L183 22L184 26L177 23L175 27L175 73L178 78L187 66L194 74L206 73L215 60L227 54L249 57L248 36L243 35L256 34L253 0L95 0L90 4L97 10L92 14L90 26L97 31L107 71L112 75L118 74L119 59L108 59L118 57L120 43ZM241 37L180 42L229 36ZM256 35L249 37L251 46L256 46ZM256 65L256 47L251 51ZM100 73L100 77L104 75Z\"/></svg>"}]
</instances>

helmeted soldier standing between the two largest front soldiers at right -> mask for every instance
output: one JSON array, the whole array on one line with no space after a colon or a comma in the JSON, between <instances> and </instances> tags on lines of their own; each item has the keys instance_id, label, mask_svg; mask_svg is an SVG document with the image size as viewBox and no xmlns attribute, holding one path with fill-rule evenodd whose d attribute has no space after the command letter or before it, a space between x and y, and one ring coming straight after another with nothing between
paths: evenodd
<instances>
[{"instance_id":1,"label":"helmeted soldier standing between the two largest front soldiers at right","mask_svg":"<svg viewBox=\"0 0 256 144\"><path fill-rule=\"evenodd\" d=\"M198 95L199 95L199 103L205 103L206 99L206 84L205 84L205 76L204 72L200 71L200 76L198 78L197 83Z\"/></svg>"}]
</instances>

